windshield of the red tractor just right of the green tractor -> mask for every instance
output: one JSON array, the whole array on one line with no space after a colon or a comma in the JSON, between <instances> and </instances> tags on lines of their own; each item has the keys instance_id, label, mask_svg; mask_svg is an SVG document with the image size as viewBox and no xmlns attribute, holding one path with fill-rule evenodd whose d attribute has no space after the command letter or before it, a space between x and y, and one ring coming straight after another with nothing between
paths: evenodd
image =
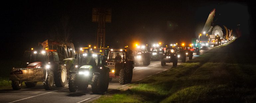
<instances>
[{"instance_id":1,"label":"windshield of the red tractor just right of the green tractor","mask_svg":"<svg viewBox=\"0 0 256 103\"><path fill-rule=\"evenodd\" d=\"M108 61L113 61L113 62L123 62L123 52L119 51L111 51L108 54Z\"/></svg>"}]
</instances>

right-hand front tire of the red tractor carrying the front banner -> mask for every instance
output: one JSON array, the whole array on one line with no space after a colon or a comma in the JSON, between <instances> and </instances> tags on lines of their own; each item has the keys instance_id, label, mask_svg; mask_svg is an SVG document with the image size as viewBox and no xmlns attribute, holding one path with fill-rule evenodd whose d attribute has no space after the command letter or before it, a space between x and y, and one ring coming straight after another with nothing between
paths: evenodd
<instances>
[{"instance_id":1,"label":"right-hand front tire of the red tractor carrying the front banner","mask_svg":"<svg viewBox=\"0 0 256 103\"><path fill-rule=\"evenodd\" d=\"M54 85L54 74L52 71L48 71L47 78L44 82L44 88L45 90L51 90L53 89L53 85Z\"/></svg>"}]
</instances>

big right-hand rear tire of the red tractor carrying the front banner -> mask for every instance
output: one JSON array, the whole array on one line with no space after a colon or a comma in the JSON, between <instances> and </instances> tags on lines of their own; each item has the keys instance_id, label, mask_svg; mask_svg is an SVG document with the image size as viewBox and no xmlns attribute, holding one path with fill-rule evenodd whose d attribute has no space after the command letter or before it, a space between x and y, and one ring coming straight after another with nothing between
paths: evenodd
<instances>
[{"instance_id":1,"label":"big right-hand rear tire of the red tractor carrying the front banner","mask_svg":"<svg viewBox=\"0 0 256 103\"><path fill-rule=\"evenodd\" d=\"M55 71L55 86L64 87L67 82L67 71L65 65L60 65Z\"/></svg>"}]
</instances>

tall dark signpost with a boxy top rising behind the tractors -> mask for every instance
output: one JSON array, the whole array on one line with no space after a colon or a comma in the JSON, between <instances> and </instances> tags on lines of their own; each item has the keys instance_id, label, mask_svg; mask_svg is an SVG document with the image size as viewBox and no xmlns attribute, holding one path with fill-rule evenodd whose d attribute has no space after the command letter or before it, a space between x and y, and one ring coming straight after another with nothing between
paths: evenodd
<instances>
[{"instance_id":1,"label":"tall dark signpost with a boxy top rising behind the tractors","mask_svg":"<svg viewBox=\"0 0 256 103\"><path fill-rule=\"evenodd\" d=\"M92 8L92 22L98 22L96 48L105 47L105 24L111 23L111 9Z\"/></svg>"}]
</instances>

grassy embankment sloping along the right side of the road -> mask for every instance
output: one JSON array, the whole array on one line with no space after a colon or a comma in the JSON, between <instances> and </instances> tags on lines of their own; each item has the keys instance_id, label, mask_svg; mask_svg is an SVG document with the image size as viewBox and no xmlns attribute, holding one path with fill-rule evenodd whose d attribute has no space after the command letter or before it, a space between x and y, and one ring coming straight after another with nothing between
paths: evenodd
<instances>
[{"instance_id":1,"label":"grassy embankment sloping along the right side of the road","mask_svg":"<svg viewBox=\"0 0 256 103\"><path fill-rule=\"evenodd\" d=\"M177 67L92 102L255 102L255 51L241 41L215 47Z\"/></svg>"}]
</instances>

